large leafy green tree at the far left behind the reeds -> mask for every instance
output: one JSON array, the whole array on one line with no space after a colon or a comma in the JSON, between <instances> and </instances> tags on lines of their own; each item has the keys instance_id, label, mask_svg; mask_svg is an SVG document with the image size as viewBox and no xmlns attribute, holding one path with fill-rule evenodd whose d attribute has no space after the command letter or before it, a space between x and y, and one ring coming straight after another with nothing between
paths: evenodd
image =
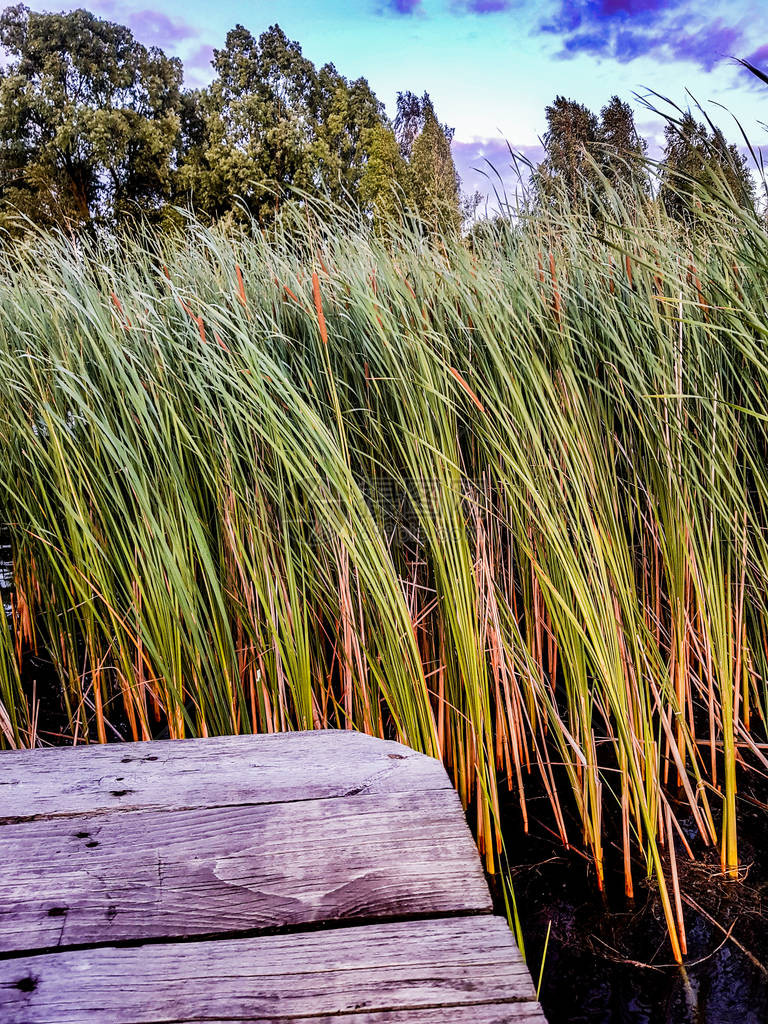
<instances>
[{"instance_id":1,"label":"large leafy green tree at the far left behind the reeds","mask_svg":"<svg viewBox=\"0 0 768 1024\"><path fill-rule=\"evenodd\" d=\"M0 215L76 227L162 209L181 63L85 10L0 16Z\"/></svg>"}]
</instances>

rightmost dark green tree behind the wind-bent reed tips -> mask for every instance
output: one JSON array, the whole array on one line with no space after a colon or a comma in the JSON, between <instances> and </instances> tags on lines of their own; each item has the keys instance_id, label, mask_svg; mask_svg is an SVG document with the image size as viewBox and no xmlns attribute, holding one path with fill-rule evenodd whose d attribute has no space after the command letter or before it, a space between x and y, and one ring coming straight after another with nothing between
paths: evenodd
<instances>
[{"instance_id":1,"label":"rightmost dark green tree behind the wind-bent reed tips","mask_svg":"<svg viewBox=\"0 0 768 1024\"><path fill-rule=\"evenodd\" d=\"M665 128L659 198L669 213L690 221L708 196L723 185L744 207L755 205L755 184L746 160L720 128L709 130L690 112Z\"/></svg>"}]
</instances>

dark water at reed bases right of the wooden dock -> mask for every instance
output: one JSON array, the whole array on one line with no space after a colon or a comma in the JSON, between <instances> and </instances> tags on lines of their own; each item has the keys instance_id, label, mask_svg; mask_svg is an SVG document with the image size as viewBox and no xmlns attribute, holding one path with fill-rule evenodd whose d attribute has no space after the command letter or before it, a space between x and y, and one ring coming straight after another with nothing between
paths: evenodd
<instances>
[{"instance_id":1,"label":"dark water at reed bases right of the wooden dock","mask_svg":"<svg viewBox=\"0 0 768 1024\"><path fill-rule=\"evenodd\" d=\"M683 891L703 911L684 905L685 970L672 964L653 886L636 885L630 903L616 871L615 891L608 885L604 897L583 857L543 825L532 823L524 836L510 820L507 843L535 983L551 922L541 991L550 1024L768 1024L768 973L760 966L768 967L768 809L751 802L749 784L743 788L745 878L723 880L716 852L709 863L705 851L705 863L679 863ZM732 929L730 939L721 929Z\"/></svg>"}]
</instances>

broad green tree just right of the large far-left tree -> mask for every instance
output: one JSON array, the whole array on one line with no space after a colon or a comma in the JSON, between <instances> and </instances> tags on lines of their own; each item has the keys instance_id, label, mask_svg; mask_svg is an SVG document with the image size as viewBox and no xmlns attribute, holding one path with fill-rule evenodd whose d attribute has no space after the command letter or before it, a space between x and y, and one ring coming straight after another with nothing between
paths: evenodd
<instances>
[{"instance_id":1,"label":"broad green tree just right of the large far-left tree","mask_svg":"<svg viewBox=\"0 0 768 1024\"><path fill-rule=\"evenodd\" d=\"M213 66L178 175L180 195L212 217L241 200L259 218L291 188L356 197L367 133L383 119L365 79L350 83L333 65L317 70L276 25L258 39L237 26Z\"/></svg>"}]
</instances>

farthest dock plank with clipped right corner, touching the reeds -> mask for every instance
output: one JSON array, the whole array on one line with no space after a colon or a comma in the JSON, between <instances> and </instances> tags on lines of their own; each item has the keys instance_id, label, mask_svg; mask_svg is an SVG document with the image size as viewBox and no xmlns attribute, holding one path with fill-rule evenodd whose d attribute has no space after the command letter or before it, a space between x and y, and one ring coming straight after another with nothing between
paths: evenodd
<instances>
[{"instance_id":1,"label":"farthest dock plank with clipped right corner, touching the reeds","mask_svg":"<svg viewBox=\"0 0 768 1024\"><path fill-rule=\"evenodd\" d=\"M352 731L4 751L0 822L449 786L438 761Z\"/></svg>"}]
</instances>

